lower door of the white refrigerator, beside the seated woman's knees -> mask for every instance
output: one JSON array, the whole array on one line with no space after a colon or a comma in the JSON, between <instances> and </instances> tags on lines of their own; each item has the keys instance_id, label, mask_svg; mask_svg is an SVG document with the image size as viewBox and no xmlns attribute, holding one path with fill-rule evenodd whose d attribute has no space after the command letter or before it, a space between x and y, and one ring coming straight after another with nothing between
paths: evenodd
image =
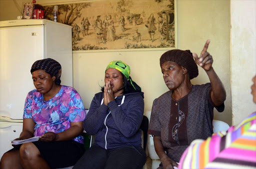
<instances>
[{"instance_id":1,"label":"lower door of the white refrigerator, beside the seated woman's knees","mask_svg":"<svg viewBox=\"0 0 256 169\"><path fill-rule=\"evenodd\" d=\"M22 123L0 122L0 158L12 149L11 140L19 137L22 132Z\"/></svg>"}]
</instances>

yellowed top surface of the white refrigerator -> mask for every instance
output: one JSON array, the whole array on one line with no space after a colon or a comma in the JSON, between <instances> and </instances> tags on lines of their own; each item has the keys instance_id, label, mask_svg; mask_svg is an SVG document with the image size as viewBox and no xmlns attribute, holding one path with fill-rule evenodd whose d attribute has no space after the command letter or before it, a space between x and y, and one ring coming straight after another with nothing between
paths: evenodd
<instances>
[{"instance_id":1,"label":"yellowed top surface of the white refrigerator","mask_svg":"<svg viewBox=\"0 0 256 169\"><path fill-rule=\"evenodd\" d=\"M34 25L46 25L47 22L60 24L67 27L72 27L67 24L62 24L59 22L54 22L52 20L47 19L20 19L20 20L4 20L0 21L0 28L2 27L12 27L12 26L34 26Z\"/></svg>"}]
</instances>

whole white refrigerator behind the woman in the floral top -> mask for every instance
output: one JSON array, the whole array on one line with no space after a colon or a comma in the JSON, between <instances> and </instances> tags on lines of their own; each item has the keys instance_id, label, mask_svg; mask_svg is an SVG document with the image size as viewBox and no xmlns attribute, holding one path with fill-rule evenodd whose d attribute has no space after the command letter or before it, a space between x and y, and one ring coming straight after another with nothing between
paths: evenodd
<instances>
[{"instance_id":1,"label":"whole white refrigerator behind the woman in the floral top","mask_svg":"<svg viewBox=\"0 0 256 169\"><path fill-rule=\"evenodd\" d=\"M72 26L46 19L0 21L0 158L22 131L26 95L33 90L34 61L61 64L61 85L72 86Z\"/></svg>"}]
</instances>

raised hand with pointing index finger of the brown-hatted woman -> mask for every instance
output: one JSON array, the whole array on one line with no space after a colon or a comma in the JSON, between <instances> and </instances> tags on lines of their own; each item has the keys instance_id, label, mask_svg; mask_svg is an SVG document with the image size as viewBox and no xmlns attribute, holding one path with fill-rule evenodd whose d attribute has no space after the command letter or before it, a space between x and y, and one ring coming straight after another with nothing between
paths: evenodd
<instances>
[{"instance_id":1,"label":"raised hand with pointing index finger of the brown-hatted woman","mask_svg":"<svg viewBox=\"0 0 256 169\"><path fill-rule=\"evenodd\" d=\"M209 43L210 40L206 40L199 58L196 53L193 53L195 63L202 67L205 71L208 71L213 63L212 56L207 52Z\"/></svg>"}]
</instances>

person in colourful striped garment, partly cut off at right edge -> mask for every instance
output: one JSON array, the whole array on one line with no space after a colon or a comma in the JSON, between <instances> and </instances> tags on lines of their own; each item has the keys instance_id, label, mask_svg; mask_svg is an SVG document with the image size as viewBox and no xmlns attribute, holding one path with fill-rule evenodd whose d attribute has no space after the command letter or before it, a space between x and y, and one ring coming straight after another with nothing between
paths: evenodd
<instances>
[{"instance_id":1,"label":"person in colourful striped garment, partly cut off at right edge","mask_svg":"<svg viewBox=\"0 0 256 169\"><path fill-rule=\"evenodd\" d=\"M256 75L251 94L256 104ZM179 169L255 169L256 112L204 140L194 140L179 161Z\"/></svg>"}]
</instances>

